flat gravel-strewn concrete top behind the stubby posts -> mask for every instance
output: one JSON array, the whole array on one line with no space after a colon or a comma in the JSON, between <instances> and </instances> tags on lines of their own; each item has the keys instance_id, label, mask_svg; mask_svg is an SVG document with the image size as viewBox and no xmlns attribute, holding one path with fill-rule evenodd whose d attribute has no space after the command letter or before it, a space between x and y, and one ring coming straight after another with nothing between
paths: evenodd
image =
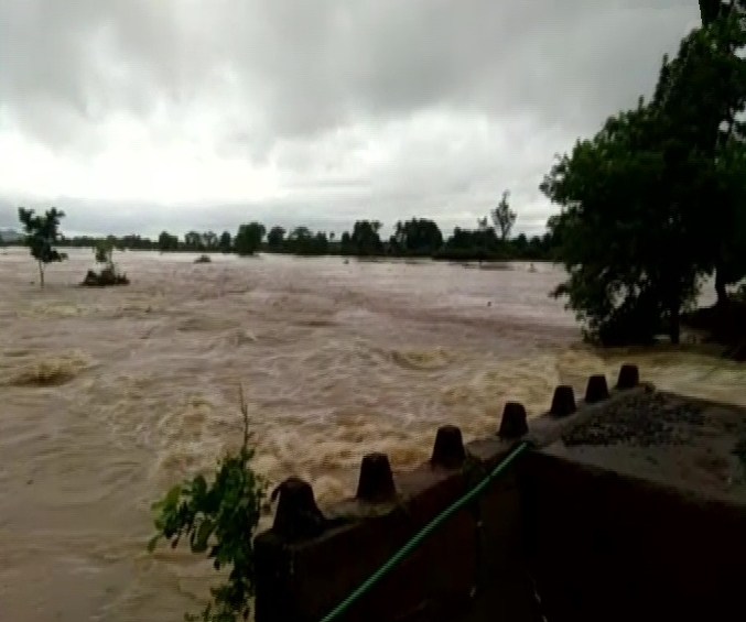
<instances>
[{"instance_id":1,"label":"flat gravel-strewn concrete top behind the stubby posts","mask_svg":"<svg viewBox=\"0 0 746 622\"><path fill-rule=\"evenodd\" d=\"M642 388L579 413L558 433L544 438L543 452L746 503L746 469L737 451L746 439L742 408Z\"/></svg>"}]
</instances>

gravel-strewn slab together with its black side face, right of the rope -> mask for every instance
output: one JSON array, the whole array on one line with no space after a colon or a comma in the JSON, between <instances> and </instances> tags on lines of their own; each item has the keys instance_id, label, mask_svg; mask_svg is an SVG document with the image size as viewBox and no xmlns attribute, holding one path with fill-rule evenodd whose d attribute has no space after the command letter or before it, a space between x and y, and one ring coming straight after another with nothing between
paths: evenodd
<instances>
[{"instance_id":1,"label":"gravel-strewn slab together with its black side face, right of the rope","mask_svg":"<svg viewBox=\"0 0 746 622\"><path fill-rule=\"evenodd\" d=\"M533 427L527 555L548 620L743 611L744 410L642 386Z\"/></svg>"}]
</instances>

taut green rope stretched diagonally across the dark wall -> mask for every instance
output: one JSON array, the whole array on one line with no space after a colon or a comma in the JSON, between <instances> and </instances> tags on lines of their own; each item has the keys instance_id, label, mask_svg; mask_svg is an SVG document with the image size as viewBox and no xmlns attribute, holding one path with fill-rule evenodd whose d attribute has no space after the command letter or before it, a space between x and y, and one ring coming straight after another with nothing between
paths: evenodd
<instances>
[{"instance_id":1,"label":"taut green rope stretched diagonally across the dark wall","mask_svg":"<svg viewBox=\"0 0 746 622\"><path fill-rule=\"evenodd\" d=\"M424 538L426 538L432 532L434 532L441 524L447 521L455 512L461 510L474 498L478 496L485 488L487 488L493 480L499 476L507 467L520 454L526 451L531 447L531 443L528 440L522 440L517 445L510 454L508 454L494 469L489 472L478 484L476 484L472 490L464 494L461 499L454 501L448 505L443 512L437 514L430 523L422 527L412 538L404 544L397 553L394 553L389 559L376 570L370 577L368 577L360 586L355 589L345 600L343 600L337 607L335 607L322 622L332 622L342 615L357 599L365 594L370 588L372 588L378 581L380 581L386 575L388 575L401 560L407 557L414 548L417 548Z\"/></svg>"}]
</instances>

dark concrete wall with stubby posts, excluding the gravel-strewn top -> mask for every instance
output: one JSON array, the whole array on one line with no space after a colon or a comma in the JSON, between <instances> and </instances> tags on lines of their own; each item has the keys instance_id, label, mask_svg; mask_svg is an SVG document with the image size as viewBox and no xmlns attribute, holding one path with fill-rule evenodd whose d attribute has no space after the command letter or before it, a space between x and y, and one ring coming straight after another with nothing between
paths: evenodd
<instances>
[{"instance_id":1,"label":"dark concrete wall with stubby posts, excluding the gravel-strewn top","mask_svg":"<svg viewBox=\"0 0 746 622\"><path fill-rule=\"evenodd\" d=\"M432 459L411 471L392 473L386 456L367 456L356 496L324 513L307 483L286 480L273 528L256 539L257 622L323 620L527 434L547 446L609 400L649 391L638 384L633 365L623 367L612 392L593 377L577 405L572 389L560 386L531 430L523 407L508 404L499 434L466 446L446 426ZM336 620L534 622L542 612L550 622L692 619L688 613L704 611L698 603L735 604L724 594L733 577L745 576L745 519L532 450Z\"/></svg>"}]
</instances>

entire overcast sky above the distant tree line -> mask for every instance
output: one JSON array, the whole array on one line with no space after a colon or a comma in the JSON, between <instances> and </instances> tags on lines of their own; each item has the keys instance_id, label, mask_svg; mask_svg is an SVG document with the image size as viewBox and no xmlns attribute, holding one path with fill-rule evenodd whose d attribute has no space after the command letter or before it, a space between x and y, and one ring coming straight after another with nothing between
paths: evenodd
<instances>
[{"instance_id":1,"label":"entire overcast sky above the distant tree line","mask_svg":"<svg viewBox=\"0 0 746 622\"><path fill-rule=\"evenodd\" d=\"M553 154L652 90L696 0L1 0L0 226L541 232Z\"/></svg>"}]
</instances>

